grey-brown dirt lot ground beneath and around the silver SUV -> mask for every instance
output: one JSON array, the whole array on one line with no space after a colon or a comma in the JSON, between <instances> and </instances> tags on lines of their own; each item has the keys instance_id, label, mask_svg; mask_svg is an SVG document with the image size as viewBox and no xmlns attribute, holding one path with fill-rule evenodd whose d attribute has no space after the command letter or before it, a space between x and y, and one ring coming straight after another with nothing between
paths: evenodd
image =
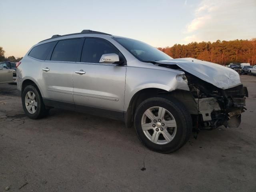
<instances>
[{"instance_id":1,"label":"grey-brown dirt lot ground beneath and around the silver SUV","mask_svg":"<svg viewBox=\"0 0 256 192\"><path fill-rule=\"evenodd\" d=\"M239 128L202 131L178 152L145 148L120 121L52 109L26 118L0 85L0 191L256 191L256 77ZM146 170L142 171L144 167Z\"/></svg>"}]
</instances>

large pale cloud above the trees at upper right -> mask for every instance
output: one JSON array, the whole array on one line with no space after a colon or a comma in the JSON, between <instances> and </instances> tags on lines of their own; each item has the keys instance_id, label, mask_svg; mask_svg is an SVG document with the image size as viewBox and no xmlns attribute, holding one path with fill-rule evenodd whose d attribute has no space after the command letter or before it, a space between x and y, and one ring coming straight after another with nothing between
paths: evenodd
<instances>
[{"instance_id":1,"label":"large pale cloud above the trees at upper right","mask_svg":"<svg viewBox=\"0 0 256 192\"><path fill-rule=\"evenodd\" d=\"M255 0L202 0L183 31L184 42L250 39L256 34Z\"/></svg>"}]
</instances>

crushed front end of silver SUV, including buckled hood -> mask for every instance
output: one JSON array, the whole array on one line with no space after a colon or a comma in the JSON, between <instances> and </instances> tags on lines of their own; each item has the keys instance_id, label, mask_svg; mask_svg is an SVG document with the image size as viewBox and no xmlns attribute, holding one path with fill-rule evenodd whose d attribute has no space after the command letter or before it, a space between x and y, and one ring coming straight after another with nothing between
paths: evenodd
<instances>
[{"instance_id":1,"label":"crushed front end of silver SUV, including buckled hood","mask_svg":"<svg viewBox=\"0 0 256 192\"><path fill-rule=\"evenodd\" d=\"M248 91L237 72L195 58L158 61L156 65L184 72L190 91L174 91L172 96L185 104L195 130L240 125Z\"/></svg>"}]
</instances>

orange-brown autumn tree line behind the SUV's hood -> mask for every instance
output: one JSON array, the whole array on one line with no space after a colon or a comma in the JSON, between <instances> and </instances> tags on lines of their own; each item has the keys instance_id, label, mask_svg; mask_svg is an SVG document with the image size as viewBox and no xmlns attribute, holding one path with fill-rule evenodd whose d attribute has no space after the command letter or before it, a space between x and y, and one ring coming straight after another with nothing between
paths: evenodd
<instances>
[{"instance_id":1,"label":"orange-brown autumn tree line behind the SUV's hood","mask_svg":"<svg viewBox=\"0 0 256 192\"><path fill-rule=\"evenodd\" d=\"M187 45L158 48L172 58L192 57L221 65L230 63L256 64L256 38L216 42L191 42Z\"/></svg>"}]
</instances>

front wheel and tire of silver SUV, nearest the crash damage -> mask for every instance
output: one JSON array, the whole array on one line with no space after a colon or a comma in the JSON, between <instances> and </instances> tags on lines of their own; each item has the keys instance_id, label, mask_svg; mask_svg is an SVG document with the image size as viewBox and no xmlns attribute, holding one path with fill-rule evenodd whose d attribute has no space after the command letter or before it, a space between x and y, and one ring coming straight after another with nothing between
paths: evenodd
<instances>
[{"instance_id":1,"label":"front wheel and tire of silver SUV, nearest the crash damage","mask_svg":"<svg viewBox=\"0 0 256 192\"><path fill-rule=\"evenodd\" d=\"M162 118L161 121L162 125L158 124L161 120L158 118L161 117L161 115L158 115L158 112L156 113L157 108L158 112L160 110L164 111L163 108L166 110L163 115L164 118ZM154 121L148 118L148 110L149 112L152 110L154 118L151 119L154 119ZM166 120L166 117L169 118L169 120ZM156 120L158 122L156 122ZM145 124L144 121L146 121ZM172 126L176 125L176 128L165 127L168 122L174 121L176 124L169 124ZM142 125L144 130L142 130ZM188 110L186 110L186 107L175 98L166 99L162 97L154 97L145 100L136 109L134 128L138 138L147 148L160 153L171 153L181 148L188 141L190 134L192 133L192 119ZM149 130L145 130L148 128ZM169 137L166 135L166 132L169 133L167 134ZM156 136L156 134L158 134L158 136ZM158 139L154 139L156 137L158 137ZM168 140L166 138L171 139Z\"/></svg>"}]
</instances>

